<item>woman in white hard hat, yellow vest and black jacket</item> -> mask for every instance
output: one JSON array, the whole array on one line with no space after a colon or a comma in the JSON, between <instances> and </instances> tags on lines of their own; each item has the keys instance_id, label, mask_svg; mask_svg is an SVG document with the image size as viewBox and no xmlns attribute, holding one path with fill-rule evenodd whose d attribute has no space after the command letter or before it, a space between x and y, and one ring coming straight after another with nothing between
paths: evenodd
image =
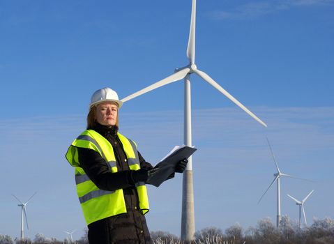
<instances>
[{"instance_id":1,"label":"woman in white hard hat, yellow vest and black jacket","mask_svg":"<svg viewBox=\"0 0 334 244\"><path fill-rule=\"evenodd\" d=\"M66 153L75 167L90 244L153 243L144 214L149 211L145 182L154 169L137 151L135 142L119 133L121 106L112 89L93 93L87 130ZM187 162L181 160L175 171L182 173Z\"/></svg>"}]
</instances>

